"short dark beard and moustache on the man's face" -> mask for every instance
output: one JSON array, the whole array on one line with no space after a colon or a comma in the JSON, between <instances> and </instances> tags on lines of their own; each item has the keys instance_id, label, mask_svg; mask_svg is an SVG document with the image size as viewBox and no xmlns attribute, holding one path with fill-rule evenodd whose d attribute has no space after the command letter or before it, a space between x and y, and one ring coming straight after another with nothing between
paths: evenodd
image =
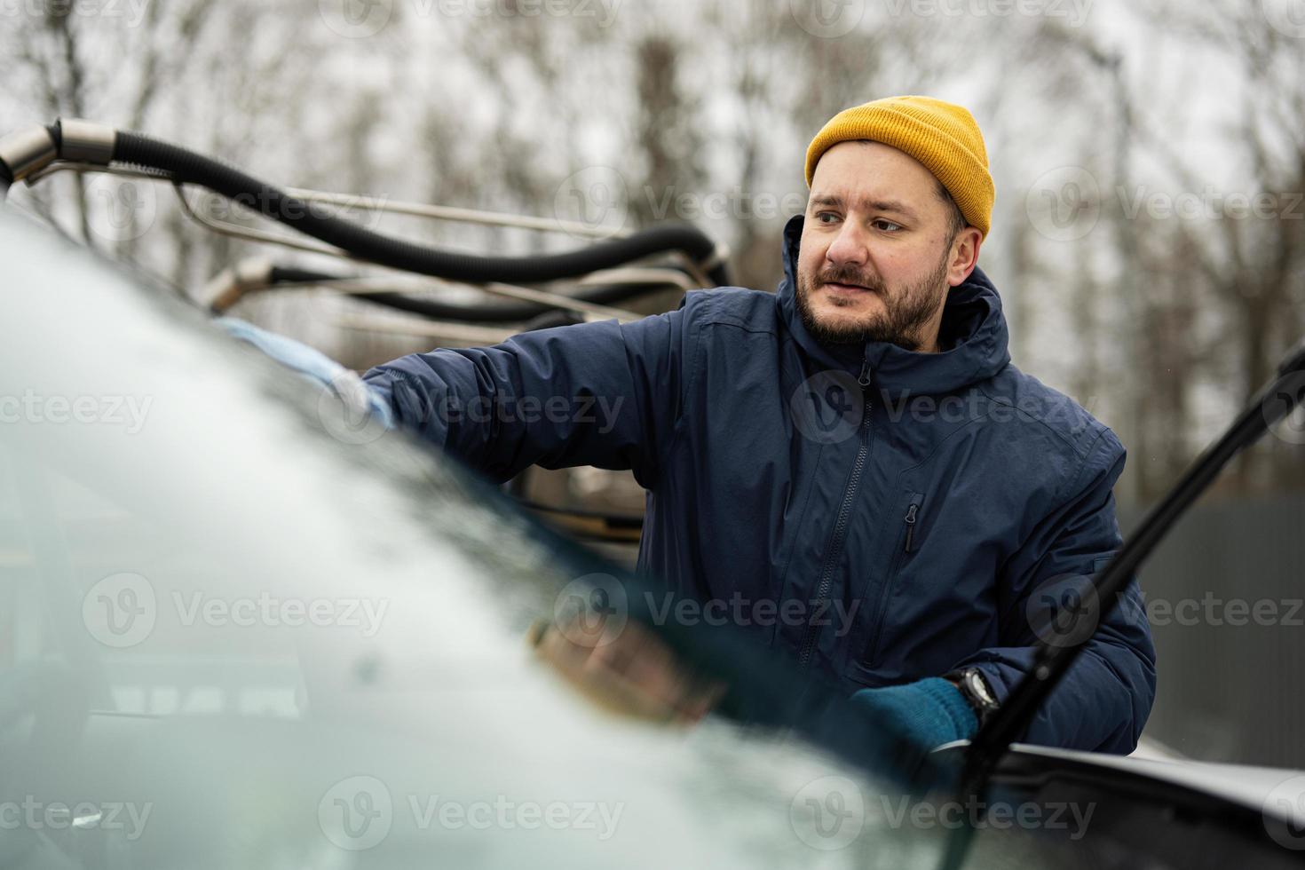
<instances>
[{"instance_id":1,"label":"short dark beard and moustache on the man's face","mask_svg":"<svg viewBox=\"0 0 1305 870\"><path fill-rule=\"evenodd\" d=\"M889 295L883 279L869 273L861 274L855 267L831 266L816 275L816 284L804 275L797 275L797 313L803 326L817 342L826 344L864 344L865 342L886 342L908 351L917 351L924 343L921 330L938 309L940 288L947 277L947 261L944 257L924 280L911 284L897 295ZM812 291L825 283L860 284L865 292L874 292L883 300L885 313L872 314L869 322L822 323L812 310Z\"/></svg>"}]
</instances>

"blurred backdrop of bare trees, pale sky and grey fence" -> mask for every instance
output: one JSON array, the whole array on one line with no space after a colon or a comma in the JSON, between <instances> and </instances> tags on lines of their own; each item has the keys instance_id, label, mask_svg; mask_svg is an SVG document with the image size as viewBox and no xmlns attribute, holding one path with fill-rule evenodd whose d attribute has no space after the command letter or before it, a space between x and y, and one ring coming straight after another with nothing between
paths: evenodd
<instances>
[{"instance_id":1,"label":"blurred backdrop of bare trees, pale sky and grey fence","mask_svg":"<svg viewBox=\"0 0 1305 870\"><path fill-rule=\"evenodd\" d=\"M1125 530L1305 337L1302 0L0 0L0 133L86 117L283 185L612 232L686 220L761 290L829 116L962 103L997 187L980 263L1011 355L1120 434ZM13 200L188 295L260 252L163 185L63 173ZM354 217L484 254L586 243ZM359 305L304 290L234 313L359 369L431 346L350 326ZM1297 413L1142 573L1147 734L1178 751L1305 766L1302 443Z\"/></svg>"}]
</instances>

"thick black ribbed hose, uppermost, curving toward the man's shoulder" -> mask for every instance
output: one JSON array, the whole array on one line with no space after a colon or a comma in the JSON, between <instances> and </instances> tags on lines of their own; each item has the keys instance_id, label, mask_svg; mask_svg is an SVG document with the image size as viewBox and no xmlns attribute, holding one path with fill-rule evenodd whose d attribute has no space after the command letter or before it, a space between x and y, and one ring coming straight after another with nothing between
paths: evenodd
<instances>
[{"instance_id":1,"label":"thick black ribbed hose, uppermost, curving toward the man's shoulder","mask_svg":"<svg viewBox=\"0 0 1305 870\"><path fill-rule=\"evenodd\" d=\"M710 261L716 250L711 239L696 227L668 224L560 254L476 257L390 239L341 218L318 214L307 202L264 184L240 170L140 133L119 132L114 159L162 170L177 181L206 187L264 217L342 248L355 257L448 280L470 283L497 280L517 284L577 278L599 269L613 269L668 250L681 250L693 262L701 263ZM726 265L718 263L709 269L707 278L716 284L728 283Z\"/></svg>"}]
</instances>

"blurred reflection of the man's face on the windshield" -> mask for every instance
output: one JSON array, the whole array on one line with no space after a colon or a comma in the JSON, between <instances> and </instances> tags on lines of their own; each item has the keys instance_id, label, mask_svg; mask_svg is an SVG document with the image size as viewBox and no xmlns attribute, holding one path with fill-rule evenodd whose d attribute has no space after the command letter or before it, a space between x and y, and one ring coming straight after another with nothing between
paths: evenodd
<instances>
[{"instance_id":1,"label":"blurred reflection of the man's face on the windshield","mask_svg":"<svg viewBox=\"0 0 1305 870\"><path fill-rule=\"evenodd\" d=\"M573 630L574 629L574 630ZM686 673L651 631L626 622L619 633L540 623L531 631L535 653L600 707L647 721L692 725L724 694Z\"/></svg>"}]
</instances>

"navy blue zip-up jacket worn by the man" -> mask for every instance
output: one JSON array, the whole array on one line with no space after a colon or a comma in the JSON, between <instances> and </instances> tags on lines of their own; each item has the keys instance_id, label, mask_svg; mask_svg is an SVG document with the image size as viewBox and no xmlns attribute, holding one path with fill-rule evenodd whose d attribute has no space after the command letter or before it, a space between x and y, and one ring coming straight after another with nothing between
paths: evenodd
<instances>
[{"instance_id":1,"label":"navy blue zip-up jacket worn by the man","mask_svg":"<svg viewBox=\"0 0 1305 870\"><path fill-rule=\"evenodd\" d=\"M1077 605L1120 547L1124 447L1010 364L979 269L949 292L938 353L817 343L795 310L800 235L796 217L778 293L690 292L634 323L414 353L364 380L496 479L633 470L639 567L715 603L699 618L753 625L848 691L972 664L1004 699L1061 630L1048 608ZM1135 746L1155 651L1135 582L1120 604L1028 742Z\"/></svg>"}]
</instances>

